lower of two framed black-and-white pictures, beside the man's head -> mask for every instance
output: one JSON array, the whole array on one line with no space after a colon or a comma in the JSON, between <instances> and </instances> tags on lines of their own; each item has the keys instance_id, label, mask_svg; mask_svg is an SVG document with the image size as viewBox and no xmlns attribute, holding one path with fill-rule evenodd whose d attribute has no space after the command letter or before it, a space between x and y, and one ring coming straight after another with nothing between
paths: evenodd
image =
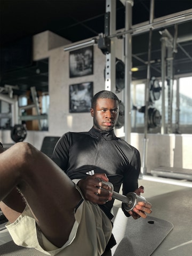
<instances>
[{"instance_id":1,"label":"lower of two framed black-and-white pictures, beside the man's head","mask_svg":"<svg viewBox=\"0 0 192 256\"><path fill-rule=\"evenodd\" d=\"M69 112L90 112L93 98L93 82L69 85Z\"/></svg>"}]
</instances>

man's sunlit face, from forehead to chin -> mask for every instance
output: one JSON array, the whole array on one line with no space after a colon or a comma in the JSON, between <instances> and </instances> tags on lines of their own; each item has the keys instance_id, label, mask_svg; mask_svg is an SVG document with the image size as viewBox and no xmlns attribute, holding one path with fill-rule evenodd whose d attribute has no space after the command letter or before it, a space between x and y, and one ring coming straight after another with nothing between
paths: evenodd
<instances>
[{"instance_id":1,"label":"man's sunlit face, from forehead to chin","mask_svg":"<svg viewBox=\"0 0 192 256\"><path fill-rule=\"evenodd\" d=\"M118 114L119 106L117 100L99 98L95 108L91 108L93 127L99 131L112 130L117 122Z\"/></svg>"}]
</instances>

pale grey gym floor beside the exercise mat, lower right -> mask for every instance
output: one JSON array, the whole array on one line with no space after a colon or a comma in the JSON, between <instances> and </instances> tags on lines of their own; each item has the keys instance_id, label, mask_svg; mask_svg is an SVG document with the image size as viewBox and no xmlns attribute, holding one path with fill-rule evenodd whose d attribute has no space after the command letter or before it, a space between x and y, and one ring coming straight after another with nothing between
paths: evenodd
<instances>
[{"instance_id":1,"label":"pale grey gym floor beside the exercise mat, lower right","mask_svg":"<svg viewBox=\"0 0 192 256\"><path fill-rule=\"evenodd\" d=\"M192 250L192 188L139 180L145 187L147 201L153 205L153 217L170 221L174 228L153 252L153 256L190 256ZM115 201L116 207L121 202ZM1 225L0 225L1 228ZM0 231L0 245L10 241L6 230ZM140 245L142 246L142 245Z\"/></svg>"}]
</instances>

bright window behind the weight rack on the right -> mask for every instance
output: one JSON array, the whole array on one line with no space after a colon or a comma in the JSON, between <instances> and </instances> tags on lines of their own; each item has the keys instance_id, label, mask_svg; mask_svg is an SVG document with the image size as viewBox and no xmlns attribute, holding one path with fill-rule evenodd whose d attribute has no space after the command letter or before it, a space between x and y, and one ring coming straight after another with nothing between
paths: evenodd
<instances>
[{"instance_id":1,"label":"bright window behind the weight rack on the right","mask_svg":"<svg viewBox=\"0 0 192 256\"><path fill-rule=\"evenodd\" d=\"M179 109L177 106L177 83L179 83ZM162 83L159 82L162 87ZM131 99L132 99L132 115L131 122L132 128L136 131L136 128L145 125L145 115L138 110L145 106L145 83L135 83L131 87ZM152 107L159 110L162 114L162 92L159 100L154 101ZM179 113L179 114L178 114ZM168 87L165 81L165 123L168 123L169 118L169 95ZM177 116L179 115L179 117ZM192 77L180 77L173 81L173 99L172 99L172 131L175 131L175 123L179 120L181 133L192 133ZM143 129L141 132L143 132ZM155 131L157 132L157 131ZM158 131L160 132L160 130Z\"/></svg>"}]
</instances>

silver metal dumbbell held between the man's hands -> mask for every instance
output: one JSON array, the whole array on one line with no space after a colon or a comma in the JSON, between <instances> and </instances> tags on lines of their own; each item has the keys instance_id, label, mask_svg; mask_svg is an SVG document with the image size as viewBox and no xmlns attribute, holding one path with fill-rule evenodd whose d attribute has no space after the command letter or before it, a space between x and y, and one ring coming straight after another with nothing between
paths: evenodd
<instances>
[{"instance_id":1,"label":"silver metal dumbbell held between the man's hands","mask_svg":"<svg viewBox=\"0 0 192 256\"><path fill-rule=\"evenodd\" d=\"M146 202L146 198L143 196L139 196L134 192L129 192L128 194L122 195L114 191L114 186L111 182L103 181L102 179L99 179L100 182L102 182L102 187L99 187L100 189L106 189L112 193L112 198L117 199L124 204L124 208L127 212L133 210L135 205L138 202Z\"/></svg>"}]
</instances>

